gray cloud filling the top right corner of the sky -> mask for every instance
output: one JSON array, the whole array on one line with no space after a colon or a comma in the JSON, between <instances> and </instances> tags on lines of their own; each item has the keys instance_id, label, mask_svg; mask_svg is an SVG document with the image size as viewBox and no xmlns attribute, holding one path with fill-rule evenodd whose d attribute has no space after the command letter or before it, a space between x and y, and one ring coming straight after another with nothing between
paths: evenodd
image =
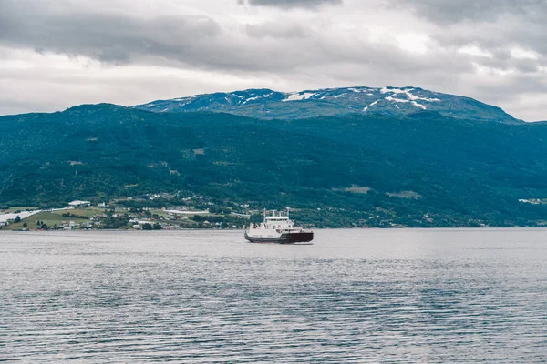
<instances>
[{"instance_id":1,"label":"gray cloud filling the top right corner of the sky","mask_svg":"<svg viewBox=\"0 0 547 364\"><path fill-rule=\"evenodd\" d=\"M431 33L439 45L478 45L500 60L511 58L511 47L547 56L547 0L387 2L439 25Z\"/></svg>"}]
</instances>

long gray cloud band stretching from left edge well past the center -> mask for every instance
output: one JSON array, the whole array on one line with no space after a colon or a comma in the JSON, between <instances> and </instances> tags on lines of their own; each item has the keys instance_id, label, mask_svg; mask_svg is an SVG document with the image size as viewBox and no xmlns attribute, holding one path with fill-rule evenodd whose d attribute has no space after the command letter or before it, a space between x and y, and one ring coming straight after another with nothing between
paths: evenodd
<instances>
[{"instance_id":1,"label":"long gray cloud band stretching from left edge well past the center","mask_svg":"<svg viewBox=\"0 0 547 364\"><path fill-rule=\"evenodd\" d=\"M408 70L422 66L392 45L339 39L324 35L324 27L304 29L288 20L247 24L243 33L228 34L206 16L138 18L78 9L57 13L36 0L5 0L5 4L7 11L0 15L0 43L89 56L113 64L291 73L302 67L314 69L335 63L368 64L368 55L375 54L375 59L383 59L383 65ZM20 19L26 19L26 26L21 26ZM287 38L299 39L287 42Z\"/></svg>"}]
</instances>

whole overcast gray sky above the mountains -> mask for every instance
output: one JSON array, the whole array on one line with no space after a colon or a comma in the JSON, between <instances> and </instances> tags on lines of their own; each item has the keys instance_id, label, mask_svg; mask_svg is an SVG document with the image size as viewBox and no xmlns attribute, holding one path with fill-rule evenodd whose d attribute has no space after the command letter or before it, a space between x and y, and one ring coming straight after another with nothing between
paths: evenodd
<instances>
[{"instance_id":1,"label":"whole overcast gray sky above the mountains","mask_svg":"<svg viewBox=\"0 0 547 364\"><path fill-rule=\"evenodd\" d=\"M0 115L419 86L547 120L547 0L0 0Z\"/></svg>"}]
</instances>

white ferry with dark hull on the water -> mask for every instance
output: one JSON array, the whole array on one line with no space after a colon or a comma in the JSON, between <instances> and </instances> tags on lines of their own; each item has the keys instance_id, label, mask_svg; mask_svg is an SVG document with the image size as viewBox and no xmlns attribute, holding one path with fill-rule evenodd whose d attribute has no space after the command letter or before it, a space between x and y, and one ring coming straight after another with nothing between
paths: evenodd
<instances>
[{"instance_id":1,"label":"white ferry with dark hull on the water","mask_svg":"<svg viewBox=\"0 0 547 364\"><path fill-rule=\"evenodd\" d=\"M303 227L295 227L289 218L289 209L286 213L274 213L266 217L260 225L251 223L249 229L245 230L245 239L252 243L277 243L294 244L306 243L314 239L313 231L304 231Z\"/></svg>"}]
</instances>

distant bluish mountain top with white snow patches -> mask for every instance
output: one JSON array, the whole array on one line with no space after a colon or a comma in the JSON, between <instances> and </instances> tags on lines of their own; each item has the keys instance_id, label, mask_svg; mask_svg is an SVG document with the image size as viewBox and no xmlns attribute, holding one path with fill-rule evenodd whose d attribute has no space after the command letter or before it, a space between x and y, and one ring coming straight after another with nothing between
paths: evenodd
<instances>
[{"instance_id":1,"label":"distant bluish mountain top with white snow patches","mask_svg":"<svg viewBox=\"0 0 547 364\"><path fill-rule=\"evenodd\" d=\"M440 94L419 87L345 87L294 93L249 89L158 100L135 107L152 112L213 111L265 119L352 113L405 116L428 110L460 119L520 122L500 107L483 104L470 97Z\"/></svg>"}]
</instances>

